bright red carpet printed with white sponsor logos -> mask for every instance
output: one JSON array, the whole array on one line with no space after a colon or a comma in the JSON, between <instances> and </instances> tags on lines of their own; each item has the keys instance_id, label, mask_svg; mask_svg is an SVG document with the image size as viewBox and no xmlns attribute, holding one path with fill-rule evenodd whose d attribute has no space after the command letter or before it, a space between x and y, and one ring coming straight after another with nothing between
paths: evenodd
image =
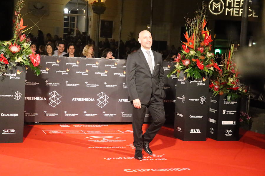
<instances>
[{"instance_id":1,"label":"bright red carpet printed with white sponsor logos","mask_svg":"<svg viewBox=\"0 0 265 176\"><path fill-rule=\"evenodd\" d=\"M26 125L23 143L0 144L0 175L265 175L265 135L251 131L240 141L187 142L163 127L154 156L135 160L131 125L62 126Z\"/></svg>"}]
</instances>

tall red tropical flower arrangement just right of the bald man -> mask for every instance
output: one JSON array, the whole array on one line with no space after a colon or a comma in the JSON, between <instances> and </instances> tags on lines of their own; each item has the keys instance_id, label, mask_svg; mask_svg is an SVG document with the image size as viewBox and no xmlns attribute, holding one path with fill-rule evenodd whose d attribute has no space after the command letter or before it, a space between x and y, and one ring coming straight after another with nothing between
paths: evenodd
<instances>
[{"instance_id":1,"label":"tall red tropical flower arrangement just right of the bald man","mask_svg":"<svg viewBox=\"0 0 265 176\"><path fill-rule=\"evenodd\" d=\"M182 42L183 50L175 57L175 68L168 77L177 72L179 77L180 71L187 74L187 77L195 79L211 76L216 70L221 71L215 62L215 55L211 52L210 31L205 29L206 26L206 5L195 12L193 19L186 18L186 33L184 34L187 42Z\"/></svg>"}]
</instances>

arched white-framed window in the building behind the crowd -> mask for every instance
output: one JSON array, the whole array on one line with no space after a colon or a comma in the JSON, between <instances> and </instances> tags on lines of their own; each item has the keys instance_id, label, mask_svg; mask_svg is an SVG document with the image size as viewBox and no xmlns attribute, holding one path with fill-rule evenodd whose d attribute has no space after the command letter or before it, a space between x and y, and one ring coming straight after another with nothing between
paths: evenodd
<instances>
[{"instance_id":1,"label":"arched white-framed window in the building behind the crowd","mask_svg":"<svg viewBox=\"0 0 265 176\"><path fill-rule=\"evenodd\" d=\"M82 32L87 32L87 1L85 0L70 0L64 7L64 29L63 38L67 35L78 35L77 28ZM91 19L91 9L88 7L88 21ZM88 28L90 35L90 28Z\"/></svg>"}]
</instances>

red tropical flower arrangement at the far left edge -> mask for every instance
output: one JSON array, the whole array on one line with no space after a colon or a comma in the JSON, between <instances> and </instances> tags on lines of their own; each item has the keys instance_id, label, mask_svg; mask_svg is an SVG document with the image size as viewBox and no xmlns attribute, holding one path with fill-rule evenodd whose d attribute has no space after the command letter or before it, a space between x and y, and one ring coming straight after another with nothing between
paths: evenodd
<instances>
[{"instance_id":1,"label":"red tropical flower arrangement at the far left edge","mask_svg":"<svg viewBox=\"0 0 265 176\"><path fill-rule=\"evenodd\" d=\"M37 66L40 62L40 56L33 53L30 49L30 39L24 34L30 28L24 30L27 26L24 26L23 18L20 14L24 1L19 0L15 6L13 38L9 41L0 40L0 73L5 73L7 69L11 70L13 66L24 65L31 67L34 74L38 76L40 70Z\"/></svg>"}]
</instances>

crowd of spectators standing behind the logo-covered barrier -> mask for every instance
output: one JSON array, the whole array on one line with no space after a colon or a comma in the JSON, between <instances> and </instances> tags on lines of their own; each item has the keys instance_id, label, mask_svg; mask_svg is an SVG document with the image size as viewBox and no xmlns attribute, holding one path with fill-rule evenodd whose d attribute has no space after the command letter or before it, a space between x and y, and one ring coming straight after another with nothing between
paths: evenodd
<instances>
[{"instance_id":1,"label":"crowd of spectators standing behind the logo-covered barrier","mask_svg":"<svg viewBox=\"0 0 265 176\"><path fill-rule=\"evenodd\" d=\"M81 34L78 29L76 36L67 35L65 39L60 38L58 35L52 37L50 33L47 33L44 40L44 34L40 30L38 31L37 37L31 33L28 34L28 37L32 42L32 51L40 55L87 58L97 57L94 53L95 41L85 33ZM125 43L120 40L118 56L118 45L119 41L105 38L105 40L98 43L98 57L108 59L127 59L128 54L135 52L140 48L140 44L135 38L128 38ZM177 50L174 45L172 45L169 51L162 50L158 52L162 54L163 60L173 61L177 53L180 52L180 47Z\"/></svg>"}]
</instances>

